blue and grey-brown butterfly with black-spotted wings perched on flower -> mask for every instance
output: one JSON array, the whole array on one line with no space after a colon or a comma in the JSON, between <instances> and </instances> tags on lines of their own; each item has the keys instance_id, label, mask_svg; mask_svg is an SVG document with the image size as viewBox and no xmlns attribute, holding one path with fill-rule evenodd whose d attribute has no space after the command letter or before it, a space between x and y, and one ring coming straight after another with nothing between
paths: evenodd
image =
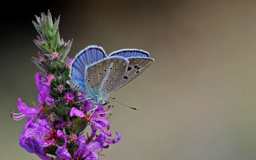
<instances>
[{"instance_id":1,"label":"blue and grey-brown butterfly with black-spotted wings perched on flower","mask_svg":"<svg viewBox=\"0 0 256 160\"><path fill-rule=\"evenodd\" d=\"M102 47L90 45L72 60L67 84L85 94L94 106L104 105L118 89L139 76L154 61L140 49L120 49L106 55Z\"/></svg>"}]
</instances>

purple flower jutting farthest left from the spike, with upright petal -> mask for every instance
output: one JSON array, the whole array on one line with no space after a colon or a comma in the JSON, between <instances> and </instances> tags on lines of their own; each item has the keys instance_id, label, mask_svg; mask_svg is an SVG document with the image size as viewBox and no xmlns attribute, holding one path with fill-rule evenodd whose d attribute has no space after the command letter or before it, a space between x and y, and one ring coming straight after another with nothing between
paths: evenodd
<instances>
[{"instance_id":1,"label":"purple flower jutting farthest left from the spike, with upright petal","mask_svg":"<svg viewBox=\"0 0 256 160\"><path fill-rule=\"evenodd\" d=\"M52 100L52 98L48 97L50 93L50 84L48 82L42 83L41 81L41 73L36 73L36 89L38 92L38 101L41 103L38 107L35 105L34 108L28 107L25 103L18 99L18 109L20 113L13 113L12 118L14 120L22 120L26 116L32 116L39 114L44 108L45 100Z\"/></svg>"}]
</instances>

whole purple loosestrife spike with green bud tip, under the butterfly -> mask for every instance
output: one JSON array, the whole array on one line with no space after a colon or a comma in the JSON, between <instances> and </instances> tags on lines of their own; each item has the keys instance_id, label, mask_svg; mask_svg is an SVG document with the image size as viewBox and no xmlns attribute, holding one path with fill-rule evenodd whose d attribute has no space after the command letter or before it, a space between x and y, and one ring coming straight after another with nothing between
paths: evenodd
<instances>
[{"instance_id":1,"label":"whole purple loosestrife spike with green bud tip, under the butterfly","mask_svg":"<svg viewBox=\"0 0 256 160\"><path fill-rule=\"evenodd\" d=\"M33 24L39 36L34 42L43 54L38 53L38 58L32 57L32 61L46 74L35 76L39 104L31 108L19 98L20 113L12 113L14 120L25 117L28 120L20 134L20 146L42 160L98 160L103 148L121 138L117 132L117 138L107 138L112 135L106 131L110 128L111 114L105 116L112 108L98 106L92 112L89 101L80 101L86 96L67 84L73 60L68 58L72 40L65 42L60 38L60 17L53 23L48 12L47 16L44 13L36 16L36 20ZM83 133L88 127L92 132L86 139Z\"/></svg>"}]
</instances>

